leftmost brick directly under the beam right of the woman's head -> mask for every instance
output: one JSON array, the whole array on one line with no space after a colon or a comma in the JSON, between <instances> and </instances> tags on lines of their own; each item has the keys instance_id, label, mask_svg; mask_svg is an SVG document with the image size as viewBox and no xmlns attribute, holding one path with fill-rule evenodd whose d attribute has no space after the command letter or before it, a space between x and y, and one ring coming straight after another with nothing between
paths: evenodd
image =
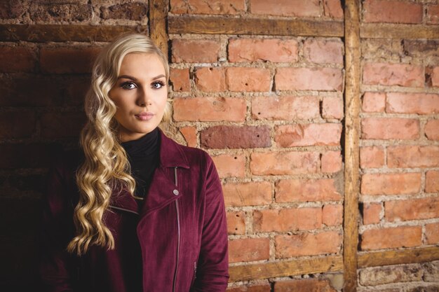
<instances>
[{"instance_id":1,"label":"leftmost brick directly under the beam right of the woman's head","mask_svg":"<svg viewBox=\"0 0 439 292\"><path fill-rule=\"evenodd\" d=\"M172 60L175 63L213 63L217 62L219 41L207 39L174 39Z\"/></svg>"}]
</instances>

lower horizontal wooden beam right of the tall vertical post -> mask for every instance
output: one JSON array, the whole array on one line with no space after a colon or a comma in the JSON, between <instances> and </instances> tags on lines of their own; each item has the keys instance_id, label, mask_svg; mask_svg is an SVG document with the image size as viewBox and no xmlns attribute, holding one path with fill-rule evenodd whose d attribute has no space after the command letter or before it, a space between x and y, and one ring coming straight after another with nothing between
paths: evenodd
<instances>
[{"instance_id":1,"label":"lower horizontal wooden beam right of the tall vertical post","mask_svg":"<svg viewBox=\"0 0 439 292\"><path fill-rule=\"evenodd\" d=\"M358 255L358 267L426 263L432 260L439 260L439 246L403 249L400 251L374 251L360 253Z\"/></svg>"}]
</instances>

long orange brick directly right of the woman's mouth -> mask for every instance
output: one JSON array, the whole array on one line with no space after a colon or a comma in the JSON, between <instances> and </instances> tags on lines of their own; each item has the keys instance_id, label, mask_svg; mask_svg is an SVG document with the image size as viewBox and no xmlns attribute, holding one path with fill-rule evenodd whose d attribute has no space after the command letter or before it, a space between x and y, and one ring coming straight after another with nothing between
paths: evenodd
<instances>
[{"instance_id":1,"label":"long orange brick directly right of the woman's mouth","mask_svg":"<svg viewBox=\"0 0 439 292\"><path fill-rule=\"evenodd\" d=\"M174 119L177 121L243 122L246 111L245 99L241 98L177 97L174 99Z\"/></svg>"}]
</instances>

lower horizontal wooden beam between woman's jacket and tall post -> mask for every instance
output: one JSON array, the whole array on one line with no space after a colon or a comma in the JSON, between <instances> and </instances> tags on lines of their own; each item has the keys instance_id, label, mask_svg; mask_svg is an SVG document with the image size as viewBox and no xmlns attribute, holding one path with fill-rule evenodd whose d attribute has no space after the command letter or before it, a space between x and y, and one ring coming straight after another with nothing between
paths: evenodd
<instances>
[{"instance_id":1,"label":"lower horizontal wooden beam between woman's jacket and tall post","mask_svg":"<svg viewBox=\"0 0 439 292\"><path fill-rule=\"evenodd\" d=\"M340 272L342 269L342 256L324 256L252 265L233 265L229 267L229 281L288 277L297 274L316 274L320 272Z\"/></svg>"}]
</instances>

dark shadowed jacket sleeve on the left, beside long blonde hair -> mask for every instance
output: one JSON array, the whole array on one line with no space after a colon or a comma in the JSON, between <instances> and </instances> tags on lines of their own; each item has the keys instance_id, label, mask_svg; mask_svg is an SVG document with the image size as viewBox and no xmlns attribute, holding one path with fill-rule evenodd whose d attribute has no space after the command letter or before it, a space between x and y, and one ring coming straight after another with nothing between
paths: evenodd
<instances>
[{"instance_id":1,"label":"dark shadowed jacket sleeve on the left, beside long blonde hair","mask_svg":"<svg viewBox=\"0 0 439 292\"><path fill-rule=\"evenodd\" d=\"M67 199L68 187L60 159L53 164L47 176L46 193L43 197L43 220L41 228L40 274L44 291L74 291L72 270L74 259L66 251L72 239L72 202Z\"/></svg>"}]
</instances>

